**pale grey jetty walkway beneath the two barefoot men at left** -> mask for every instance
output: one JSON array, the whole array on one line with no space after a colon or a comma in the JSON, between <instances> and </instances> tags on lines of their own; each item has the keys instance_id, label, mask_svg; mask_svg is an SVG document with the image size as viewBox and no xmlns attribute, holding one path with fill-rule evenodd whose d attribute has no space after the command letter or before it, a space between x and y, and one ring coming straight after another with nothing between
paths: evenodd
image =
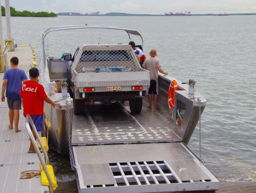
<instances>
[{"instance_id":1,"label":"pale grey jetty walkway beneath the two barefoot men at left","mask_svg":"<svg viewBox=\"0 0 256 193\"><path fill-rule=\"evenodd\" d=\"M11 57L19 58L18 67L28 74L29 60L32 61L30 47L18 47L15 52L8 52L8 62ZM32 62L31 62L32 63ZM10 66L10 64L9 64ZM2 87L4 73L0 73L0 85ZM22 171L40 171L40 161L37 154L28 154L30 141L25 127L25 118L20 110L19 129L14 132L9 129L9 108L7 101L0 102L0 182L2 193L44 193L49 192L48 186L41 184L41 176L31 179L20 179Z\"/></svg>"}]
</instances>

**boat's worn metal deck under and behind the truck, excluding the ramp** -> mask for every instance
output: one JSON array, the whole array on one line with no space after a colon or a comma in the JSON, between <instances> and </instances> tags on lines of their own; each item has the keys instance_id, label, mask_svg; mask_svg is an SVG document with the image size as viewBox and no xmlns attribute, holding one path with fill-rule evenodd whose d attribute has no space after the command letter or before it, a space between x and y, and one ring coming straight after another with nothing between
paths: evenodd
<instances>
[{"instance_id":1,"label":"boat's worn metal deck under and behind the truck, excluding the ramp","mask_svg":"<svg viewBox=\"0 0 256 193\"><path fill-rule=\"evenodd\" d=\"M144 98L140 114L129 113L129 102L86 104L83 115L73 116L72 145L181 141L167 110L147 104Z\"/></svg>"}]
</instances>

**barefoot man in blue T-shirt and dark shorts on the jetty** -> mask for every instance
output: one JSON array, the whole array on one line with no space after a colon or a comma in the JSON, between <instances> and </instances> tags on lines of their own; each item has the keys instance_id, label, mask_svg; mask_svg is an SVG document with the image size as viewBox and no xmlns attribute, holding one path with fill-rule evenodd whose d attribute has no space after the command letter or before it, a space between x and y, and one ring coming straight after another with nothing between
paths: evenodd
<instances>
[{"instance_id":1,"label":"barefoot man in blue T-shirt and dark shorts on the jetty","mask_svg":"<svg viewBox=\"0 0 256 193\"><path fill-rule=\"evenodd\" d=\"M25 82L28 78L24 70L18 68L19 59L18 57L12 57L11 67L4 72L1 101L5 101L5 96L7 98L7 103L9 107L9 129L13 129L13 121L15 132L20 132L18 129L19 117L21 110L22 100L20 96L22 81Z\"/></svg>"}]
</instances>

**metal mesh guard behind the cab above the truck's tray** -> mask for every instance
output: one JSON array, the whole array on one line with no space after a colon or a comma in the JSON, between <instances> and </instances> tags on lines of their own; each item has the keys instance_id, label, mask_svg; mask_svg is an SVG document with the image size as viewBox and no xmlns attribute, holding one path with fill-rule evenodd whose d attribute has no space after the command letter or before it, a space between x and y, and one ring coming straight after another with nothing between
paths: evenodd
<instances>
[{"instance_id":1,"label":"metal mesh guard behind the cab above the truck's tray","mask_svg":"<svg viewBox=\"0 0 256 193\"><path fill-rule=\"evenodd\" d=\"M110 68L117 71L139 71L139 63L129 45L88 45L77 54L72 66L77 73L108 71Z\"/></svg>"}]
</instances>

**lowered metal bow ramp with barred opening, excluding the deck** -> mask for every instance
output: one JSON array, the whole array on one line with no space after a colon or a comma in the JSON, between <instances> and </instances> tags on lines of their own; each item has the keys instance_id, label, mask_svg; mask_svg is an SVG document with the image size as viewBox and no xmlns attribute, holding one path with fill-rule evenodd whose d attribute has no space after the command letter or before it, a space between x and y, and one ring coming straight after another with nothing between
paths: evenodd
<instances>
[{"instance_id":1,"label":"lowered metal bow ramp with barred opening, excluding the deck","mask_svg":"<svg viewBox=\"0 0 256 193\"><path fill-rule=\"evenodd\" d=\"M79 193L156 193L219 188L182 143L72 147Z\"/></svg>"}]
</instances>

